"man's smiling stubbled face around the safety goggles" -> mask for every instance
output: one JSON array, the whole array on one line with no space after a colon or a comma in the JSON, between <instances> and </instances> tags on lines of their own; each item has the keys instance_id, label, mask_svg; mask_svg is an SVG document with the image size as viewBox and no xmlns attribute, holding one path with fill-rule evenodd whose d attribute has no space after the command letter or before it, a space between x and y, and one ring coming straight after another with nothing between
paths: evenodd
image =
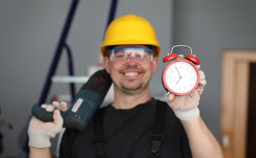
<instances>
[{"instance_id":1,"label":"man's smiling stubbled face around the safety goggles","mask_svg":"<svg viewBox=\"0 0 256 158\"><path fill-rule=\"evenodd\" d=\"M147 48L136 44L120 45L115 48L123 47ZM148 64L139 64L134 57L130 57L127 62L115 64L109 57L105 57L104 64L115 85L115 91L132 95L149 91L148 82L157 69L158 61L157 57L153 57L153 61Z\"/></svg>"}]
</instances>

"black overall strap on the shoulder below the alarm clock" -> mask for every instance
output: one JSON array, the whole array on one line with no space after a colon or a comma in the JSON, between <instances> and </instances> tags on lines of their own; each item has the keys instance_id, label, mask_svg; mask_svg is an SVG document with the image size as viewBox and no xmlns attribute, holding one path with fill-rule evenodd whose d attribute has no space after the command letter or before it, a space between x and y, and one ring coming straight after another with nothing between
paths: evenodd
<instances>
[{"instance_id":1,"label":"black overall strap on the shoulder below the alarm clock","mask_svg":"<svg viewBox=\"0 0 256 158\"><path fill-rule=\"evenodd\" d=\"M157 158L160 153L161 143L164 141L164 120L166 114L166 104L157 100L157 107L155 110L155 121L153 131L150 135L151 151L150 158Z\"/></svg>"}]
</instances>

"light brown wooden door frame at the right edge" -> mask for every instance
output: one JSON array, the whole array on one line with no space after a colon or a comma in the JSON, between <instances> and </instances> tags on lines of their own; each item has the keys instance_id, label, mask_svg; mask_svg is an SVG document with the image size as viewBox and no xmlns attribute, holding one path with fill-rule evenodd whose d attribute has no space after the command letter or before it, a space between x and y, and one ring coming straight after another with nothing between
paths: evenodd
<instances>
[{"instance_id":1,"label":"light brown wooden door frame at the right edge","mask_svg":"<svg viewBox=\"0 0 256 158\"><path fill-rule=\"evenodd\" d=\"M224 50L222 57L222 149L225 158L246 158L249 64L256 50Z\"/></svg>"}]
</instances>

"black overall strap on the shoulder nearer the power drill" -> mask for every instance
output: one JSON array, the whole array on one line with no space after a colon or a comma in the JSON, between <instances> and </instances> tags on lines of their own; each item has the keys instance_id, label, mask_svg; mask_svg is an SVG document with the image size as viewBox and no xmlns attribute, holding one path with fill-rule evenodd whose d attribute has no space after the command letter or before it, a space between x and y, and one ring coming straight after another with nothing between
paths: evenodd
<instances>
[{"instance_id":1,"label":"black overall strap on the shoulder nearer the power drill","mask_svg":"<svg viewBox=\"0 0 256 158\"><path fill-rule=\"evenodd\" d=\"M105 158L104 143L106 142L106 138L103 130L104 111L105 108L101 108L97 110L96 114L94 115L94 138L92 143L95 145L97 158Z\"/></svg>"}]
</instances>

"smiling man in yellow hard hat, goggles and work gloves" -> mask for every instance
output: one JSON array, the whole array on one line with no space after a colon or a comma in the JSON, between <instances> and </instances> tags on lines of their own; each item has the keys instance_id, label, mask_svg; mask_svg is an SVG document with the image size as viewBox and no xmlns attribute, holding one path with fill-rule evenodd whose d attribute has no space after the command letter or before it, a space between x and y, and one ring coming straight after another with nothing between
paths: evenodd
<instances>
[{"instance_id":1,"label":"smiling man in yellow hard hat, goggles and work gloves","mask_svg":"<svg viewBox=\"0 0 256 158\"><path fill-rule=\"evenodd\" d=\"M223 157L218 141L199 115L199 99L206 84L202 71L193 98L169 94L168 97L165 95L166 104L150 97L148 83L157 69L160 46L146 19L125 15L114 20L106 31L101 53L106 71L114 83L115 99L111 105L98 110L85 132L66 129L60 147L61 158ZM53 106L65 109L65 103L54 102ZM154 124L159 118L156 117L159 116L158 107L167 107L162 113L165 114L164 120L160 121L163 124L160 145L154 144L152 137L152 131L162 128L155 128ZM47 107L47 111L53 109ZM28 130L30 158L51 157L49 139L60 131L63 124L58 110L54 111L53 118L53 123L31 119ZM99 129L106 140L97 144L94 137Z\"/></svg>"}]
</instances>

